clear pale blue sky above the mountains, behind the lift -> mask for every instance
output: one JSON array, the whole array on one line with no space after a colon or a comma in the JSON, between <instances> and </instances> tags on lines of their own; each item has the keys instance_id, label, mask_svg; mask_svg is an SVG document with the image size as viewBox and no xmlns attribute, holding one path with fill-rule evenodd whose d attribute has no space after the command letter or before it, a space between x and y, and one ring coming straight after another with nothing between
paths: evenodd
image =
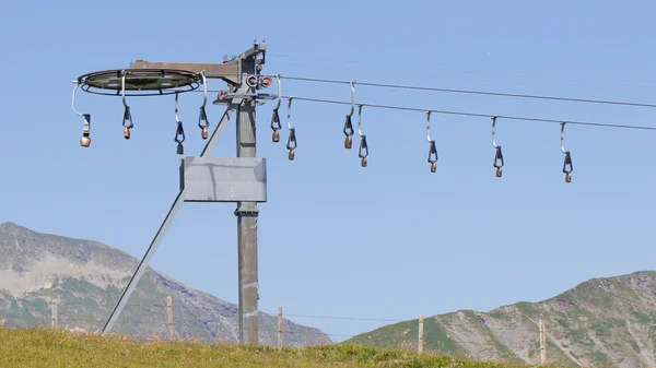
<instances>
[{"instance_id":1,"label":"clear pale blue sky above the mountains, behind the lift","mask_svg":"<svg viewBox=\"0 0 656 368\"><path fill-rule=\"evenodd\" d=\"M654 103L656 5L635 1L231 2L11 1L0 14L4 161L0 221L103 241L140 258L178 190L173 96L130 98L132 139L114 97L78 94L92 146L70 109L71 81L136 59L221 62L254 39L263 73ZM253 19L253 24L245 23ZM224 83L211 80L211 88ZM271 92L274 92L271 90ZM348 100L348 85L283 81L283 94ZM480 114L654 126L647 108L359 86L360 102ZM201 95L180 95L188 154ZM347 106L294 102L298 149L270 140L258 108L260 309L415 319L538 301L590 277L653 270L656 132L363 109L368 167L343 149ZM222 114L208 107L212 127ZM281 116L286 114L281 109ZM355 144L358 141L355 140ZM213 155L233 156L234 126ZM236 302L233 204L186 203L152 266ZM293 319L356 334L383 322Z\"/></svg>"}]
</instances>

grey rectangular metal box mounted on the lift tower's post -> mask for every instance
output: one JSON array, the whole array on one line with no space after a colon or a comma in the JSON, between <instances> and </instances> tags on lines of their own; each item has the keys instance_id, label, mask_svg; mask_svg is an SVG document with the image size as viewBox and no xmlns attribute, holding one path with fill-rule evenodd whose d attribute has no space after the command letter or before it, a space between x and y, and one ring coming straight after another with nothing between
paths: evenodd
<instances>
[{"instance_id":1,"label":"grey rectangular metal box mounted on the lift tower's post","mask_svg":"<svg viewBox=\"0 0 656 368\"><path fill-rule=\"evenodd\" d=\"M185 157L185 202L267 202L266 164L261 157Z\"/></svg>"}]
</instances>

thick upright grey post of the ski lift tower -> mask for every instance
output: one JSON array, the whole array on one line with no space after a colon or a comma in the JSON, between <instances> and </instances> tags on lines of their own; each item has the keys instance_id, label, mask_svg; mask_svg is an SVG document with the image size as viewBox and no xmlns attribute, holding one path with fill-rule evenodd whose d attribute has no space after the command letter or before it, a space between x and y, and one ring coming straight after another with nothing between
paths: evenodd
<instances>
[{"instance_id":1,"label":"thick upright grey post of the ski lift tower","mask_svg":"<svg viewBox=\"0 0 656 368\"><path fill-rule=\"evenodd\" d=\"M242 59L242 73L255 73L255 60ZM245 84L245 83L243 83ZM237 107L237 157L256 156L255 99ZM237 253L239 289L239 343L258 344L258 272L256 202L237 202Z\"/></svg>"}]
</instances>

